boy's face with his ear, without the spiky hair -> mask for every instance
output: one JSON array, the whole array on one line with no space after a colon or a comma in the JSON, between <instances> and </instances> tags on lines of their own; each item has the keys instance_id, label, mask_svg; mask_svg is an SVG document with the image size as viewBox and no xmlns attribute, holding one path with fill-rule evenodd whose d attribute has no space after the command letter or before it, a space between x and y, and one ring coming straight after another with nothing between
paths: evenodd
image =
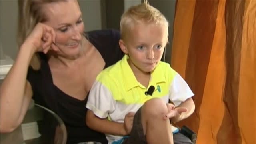
<instances>
[{"instance_id":1,"label":"boy's face with his ear, without the spiky hair","mask_svg":"<svg viewBox=\"0 0 256 144\"><path fill-rule=\"evenodd\" d=\"M126 40L120 40L122 51L129 55L133 72L152 72L160 62L168 42L168 26L164 24L135 24Z\"/></svg>"}]
</instances>

